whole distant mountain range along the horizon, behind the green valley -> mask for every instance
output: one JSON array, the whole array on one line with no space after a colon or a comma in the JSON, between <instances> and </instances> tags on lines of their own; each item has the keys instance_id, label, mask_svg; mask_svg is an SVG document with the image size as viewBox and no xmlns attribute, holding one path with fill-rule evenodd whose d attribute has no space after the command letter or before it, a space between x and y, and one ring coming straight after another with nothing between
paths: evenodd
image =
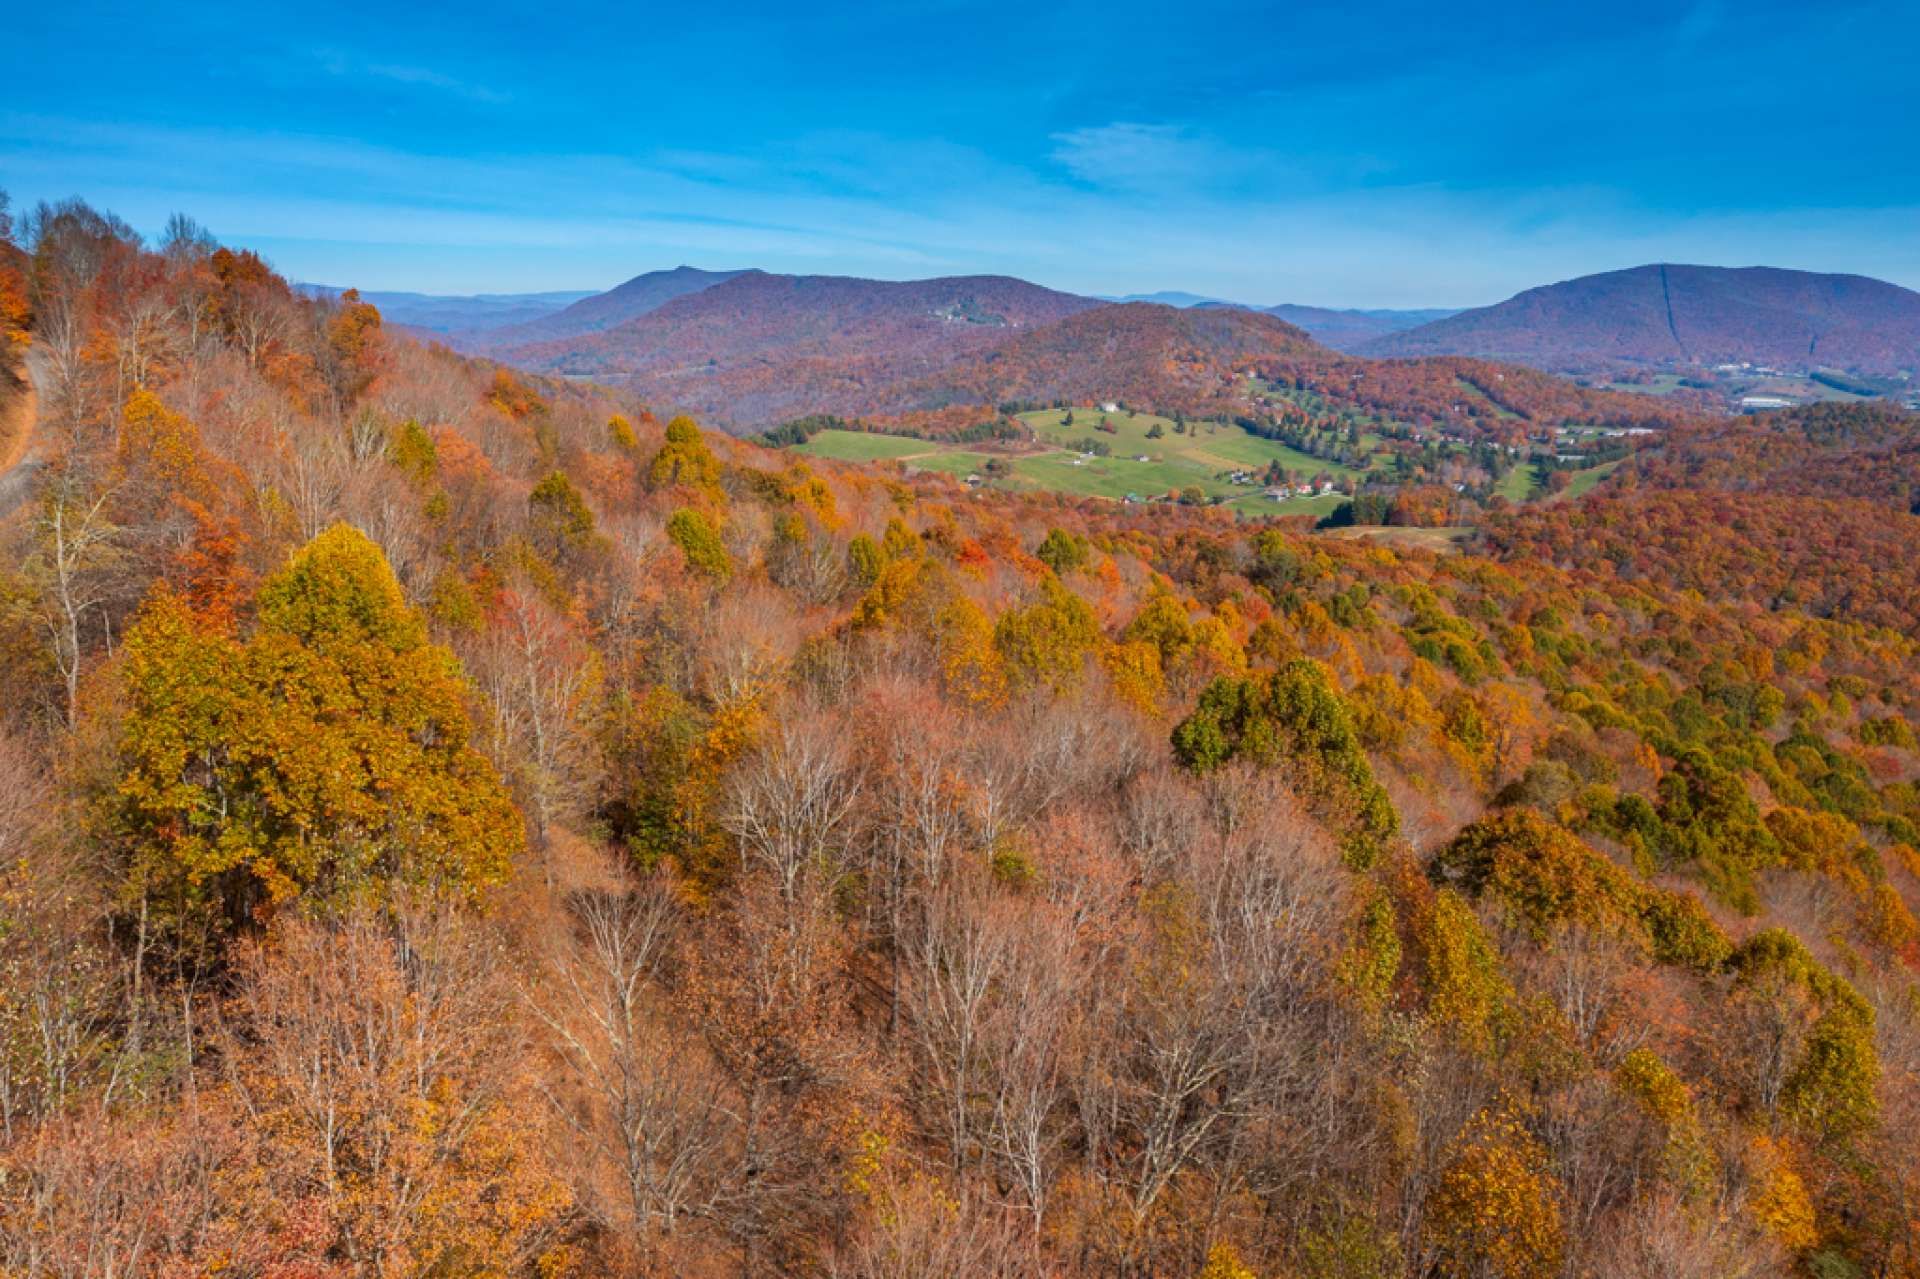
<instances>
[{"instance_id":1,"label":"whole distant mountain range along the horizon, behind the green valley","mask_svg":"<svg viewBox=\"0 0 1920 1279\"><path fill-rule=\"evenodd\" d=\"M1415 419L1473 411L1453 394L1459 367L1365 363L1380 357L1551 373L1745 361L1885 374L1920 363L1920 294L1774 269L1636 267L1459 313L1248 307L1188 292L1108 302L991 275L899 282L697 267L588 296L367 296L396 325L457 350L616 382L735 430L1056 398L1212 413L1244 405L1235 378L1256 367Z\"/></svg>"}]
</instances>

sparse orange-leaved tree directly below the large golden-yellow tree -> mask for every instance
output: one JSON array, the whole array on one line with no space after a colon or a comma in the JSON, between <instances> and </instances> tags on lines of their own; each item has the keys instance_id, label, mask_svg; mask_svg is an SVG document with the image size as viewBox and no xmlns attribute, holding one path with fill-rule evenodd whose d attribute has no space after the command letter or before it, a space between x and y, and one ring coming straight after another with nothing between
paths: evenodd
<instances>
[{"instance_id":1,"label":"sparse orange-leaved tree directly below the large golden-yellow tree","mask_svg":"<svg viewBox=\"0 0 1920 1279\"><path fill-rule=\"evenodd\" d=\"M511 976L436 901L290 922L240 954L227 1079L271 1133L269 1185L319 1195L355 1271L451 1264L463 1237L526 1264L557 1221Z\"/></svg>"}]
</instances>

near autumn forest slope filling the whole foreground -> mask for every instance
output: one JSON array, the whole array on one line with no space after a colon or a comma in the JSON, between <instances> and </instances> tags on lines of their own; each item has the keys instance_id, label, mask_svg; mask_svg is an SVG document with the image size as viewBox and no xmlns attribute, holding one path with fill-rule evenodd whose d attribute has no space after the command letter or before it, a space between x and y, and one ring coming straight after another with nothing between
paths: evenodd
<instances>
[{"instance_id":1,"label":"near autumn forest slope filling the whole foreground","mask_svg":"<svg viewBox=\"0 0 1920 1279\"><path fill-rule=\"evenodd\" d=\"M1910 636L19 238L6 1273L1920 1273Z\"/></svg>"}]
</instances>

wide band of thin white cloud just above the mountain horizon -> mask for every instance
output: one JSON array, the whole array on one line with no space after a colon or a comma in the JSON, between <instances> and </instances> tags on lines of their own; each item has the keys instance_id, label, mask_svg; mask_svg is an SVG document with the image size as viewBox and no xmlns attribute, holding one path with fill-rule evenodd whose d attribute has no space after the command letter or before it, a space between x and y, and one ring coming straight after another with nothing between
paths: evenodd
<instances>
[{"instance_id":1,"label":"wide band of thin white cloud just above the mountain horizon","mask_svg":"<svg viewBox=\"0 0 1920 1279\"><path fill-rule=\"evenodd\" d=\"M770 138L718 157L447 156L0 109L0 173L17 205L83 194L150 232L186 211L298 277L367 288L612 284L680 261L891 278L995 271L1079 292L1329 305L1484 303L1644 261L1920 282L1912 207L1676 215L1597 184L1221 192L1219 173L1263 156L1152 125L1054 144L1085 175L872 134ZM1177 192L1150 198L1140 182Z\"/></svg>"}]
</instances>

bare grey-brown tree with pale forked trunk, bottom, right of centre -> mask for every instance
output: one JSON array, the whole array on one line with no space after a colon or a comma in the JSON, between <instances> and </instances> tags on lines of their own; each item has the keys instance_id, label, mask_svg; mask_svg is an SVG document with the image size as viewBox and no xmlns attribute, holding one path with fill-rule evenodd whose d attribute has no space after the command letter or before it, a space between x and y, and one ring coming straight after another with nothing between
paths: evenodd
<instances>
[{"instance_id":1,"label":"bare grey-brown tree with pale forked trunk, bottom, right of centre","mask_svg":"<svg viewBox=\"0 0 1920 1279\"><path fill-rule=\"evenodd\" d=\"M1215 1202L1277 1195L1344 1135L1329 1104L1342 1062L1327 1050L1340 1043L1329 972L1344 881L1284 793L1267 812L1150 891L1152 933L1104 997L1117 1018L1079 1072L1091 1170L1127 1221L1121 1269L1148 1266L1148 1227L1183 1173L1202 1171Z\"/></svg>"}]
</instances>

